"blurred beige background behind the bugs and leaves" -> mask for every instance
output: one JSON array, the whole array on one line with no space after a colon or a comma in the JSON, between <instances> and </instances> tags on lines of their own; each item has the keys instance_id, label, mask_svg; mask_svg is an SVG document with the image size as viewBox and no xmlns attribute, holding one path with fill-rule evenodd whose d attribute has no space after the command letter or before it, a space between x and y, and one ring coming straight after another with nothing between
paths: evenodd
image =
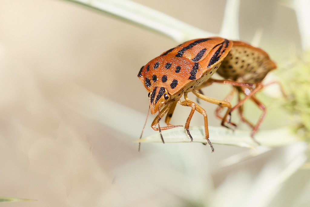
<instances>
[{"instance_id":1,"label":"blurred beige background behind the bugs and leaves","mask_svg":"<svg viewBox=\"0 0 310 207\"><path fill-rule=\"evenodd\" d=\"M221 28L226 3L135 2L213 33ZM251 42L261 30L259 47L278 63L292 48L301 48L295 13L286 3L240 4L241 40ZM217 190L231 173L249 173L240 178L250 180L265 158L281 160L278 149L219 169L221 160L247 149L215 145L210 154L209 147L197 143L143 144L137 152L132 141L148 110L138 71L177 44L71 2L0 0L0 195L38 200L10 206L220 206L216 200L224 199L219 192L225 190ZM228 90L214 85L205 94L223 99ZM102 105L103 100L113 102ZM116 104L124 108L98 119L80 110L93 106L104 114ZM209 124L219 126L216 106L202 106ZM189 109L177 106L177 111L172 123L183 124ZM154 133L151 119L146 134ZM267 117L262 128L277 126L272 120ZM201 125L202 117L195 115L191 124Z\"/></svg>"}]
</instances>

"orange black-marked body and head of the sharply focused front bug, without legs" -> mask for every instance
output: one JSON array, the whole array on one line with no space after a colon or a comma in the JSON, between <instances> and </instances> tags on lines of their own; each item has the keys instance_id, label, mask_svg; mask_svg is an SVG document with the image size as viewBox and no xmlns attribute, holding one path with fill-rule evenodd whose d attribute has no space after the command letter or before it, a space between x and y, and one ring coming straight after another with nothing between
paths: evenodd
<instances>
[{"instance_id":1,"label":"orange black-marked body and head of the sharply focused front bug, without legs","mask_svg":"<svg viewBox=\"0 0 310 207\"><path fill-rule=\"evenodd\" d=\"M138 77L149 92L151 113L209 79L231 47L232 41L220 37L194 39L144 65Z\"/></svg>"}]
</instances>

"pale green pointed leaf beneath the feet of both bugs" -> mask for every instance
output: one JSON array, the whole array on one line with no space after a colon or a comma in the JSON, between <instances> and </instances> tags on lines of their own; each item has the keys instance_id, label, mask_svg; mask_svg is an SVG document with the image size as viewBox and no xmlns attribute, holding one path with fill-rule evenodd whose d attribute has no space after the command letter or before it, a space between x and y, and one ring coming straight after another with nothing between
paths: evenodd
<instances>
[{"instance_id":1,"label":"pale green pointed leaf beneath the feet of both bugs","mask_svg":"<svg viewBox=\"0 0 310 207\"><path fill-rule=\"evenodd\" d=\"M209 126L209 139L214 144L234 145L240 147L255 148L259 146L249 135L249 131L226 129L223 127ZM204 126L190 127L189 131L193 142L207 143L205 139ZM165 142L191 142L183 127L163 130L162 136ZM299 139L289 132L287 128L264 130L255 134L255 140L263 146L277 147L292 144ZM156 133L144 137L135 142L162 142L160 134Z\"/></svg>"}]
</instances>

